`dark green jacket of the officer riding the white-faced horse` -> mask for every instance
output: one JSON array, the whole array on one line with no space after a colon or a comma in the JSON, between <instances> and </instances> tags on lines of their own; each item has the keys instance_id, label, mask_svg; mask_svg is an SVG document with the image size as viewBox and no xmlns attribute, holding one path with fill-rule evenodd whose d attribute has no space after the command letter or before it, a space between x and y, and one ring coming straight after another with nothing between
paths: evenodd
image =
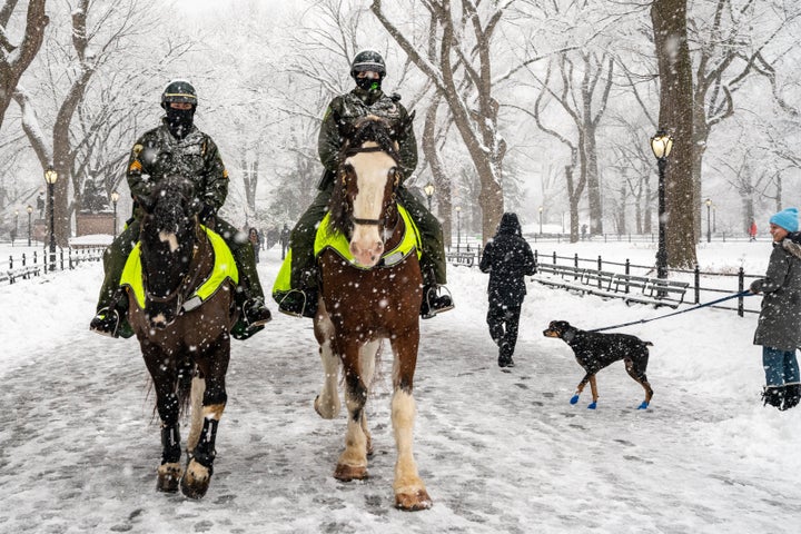
<instances>
[{"instance_id":1,"label":"dark green jacket of the officer riding the white-faced horse","mask_svg":"<svg viewBox=\"0 0 801 534\"><path fill-rule=\"evenodd\" d=\"M383 91L365 91L358 87L350 92L334 98L323 117L323 126L317 141L320 161L326 170L336 172L339 166L337 156L345 141L342 135L343 126L353 125L356 119L367 115L389 119L393 123L406 120L408 112L399 100L400 97L397 95L387 97ZM400 152L400 170L405 180L412 176L412 172L417 167L417 140L412 125L404 132L400 132L398 148Z\"/></svg>"}]
</instances>

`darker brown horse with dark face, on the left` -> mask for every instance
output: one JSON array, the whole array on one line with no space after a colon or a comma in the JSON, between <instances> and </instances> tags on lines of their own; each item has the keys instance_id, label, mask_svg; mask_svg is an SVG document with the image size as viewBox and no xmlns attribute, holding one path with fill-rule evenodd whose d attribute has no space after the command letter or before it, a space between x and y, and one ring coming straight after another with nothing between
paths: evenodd
<instances>
[{"instance_id":1,"label":"darker brown horse with dark face, on the left","mask_svg":"<svg viewBox=\"0 0 801 534\"><path fill-rule=\"evenodd\" d=\"M236 319L235 285L222 277L224 281L207 290L202 299L194 296L215 269L216 253L212 236L198 222L191 184L162 180L148 198L140 199L140 205L145 210L139 236L144 295L137 297L129 286L128 298L130 324L154 382L161 419L157 490L177 492L180 484L185 495L200 498L211 478L217 425L227 399L225 377L229 333ZM192 409L185 472L178 428L190 384Z\"/></svg>"}]
</instances>

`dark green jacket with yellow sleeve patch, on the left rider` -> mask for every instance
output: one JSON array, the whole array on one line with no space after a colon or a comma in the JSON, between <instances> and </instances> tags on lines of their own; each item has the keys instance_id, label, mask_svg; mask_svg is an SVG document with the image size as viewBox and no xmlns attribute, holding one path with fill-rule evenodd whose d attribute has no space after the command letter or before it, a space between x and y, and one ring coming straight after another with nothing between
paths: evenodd
<instances>
[{"instance_id":1,"label":"dark green jacket with yellow sleeve patch, on the left rider","mask_svg":"<svg viewBox=\"0 0 801 534\"><path fill-rule=\"evenodd\" d=\"M162 121L134 145L128 161L128 186L135 199L146 197L154 184L175 175L195 184L198 199L215 211L222 207L228 196L228 172L217 145L195 126L187 137L176 139Z\"/></svg>"}]
</instances>

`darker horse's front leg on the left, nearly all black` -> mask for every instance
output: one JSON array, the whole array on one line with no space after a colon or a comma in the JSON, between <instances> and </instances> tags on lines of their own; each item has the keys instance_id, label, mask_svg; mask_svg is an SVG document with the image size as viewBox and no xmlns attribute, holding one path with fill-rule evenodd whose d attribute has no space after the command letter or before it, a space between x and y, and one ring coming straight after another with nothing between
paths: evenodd
<instances>
[{"instance_id":1,"label":"darker horse's front leg on the left, nearly all black","mask_svg":"<svg viewBox=\"0 0 801 534\"><path fill-rule=\"evenodd\" d=\"M178 432L180 403L175 389L177 375L175 360L151 343L142 344L142 356L154 380L156 409L161 419L161 465L158 468L156 490L175 493L184 473L180 465L181 447Z\"/></svg>"}]
</instances>

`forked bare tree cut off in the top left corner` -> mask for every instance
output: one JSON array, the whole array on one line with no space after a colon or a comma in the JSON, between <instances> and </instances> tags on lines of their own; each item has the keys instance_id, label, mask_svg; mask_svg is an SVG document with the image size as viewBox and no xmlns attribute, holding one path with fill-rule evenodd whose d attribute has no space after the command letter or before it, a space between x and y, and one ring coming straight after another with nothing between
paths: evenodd
<instances>
[{"instance_id":1,"label":"forked bare tree cut off in the top left corner","mask_svg":"<svg viewBox=\"0 0 801 534\"><path fill-rule=\"evenodd\" d=\"M6 0L0 7L0 126L17 90L17 83L39 52L44 40L44 29L50 22L44 13L46 0L30 0L22 40L19 44L13 44L7 29L17 3L18 0Z\"/></svg>"}]
</instances>

